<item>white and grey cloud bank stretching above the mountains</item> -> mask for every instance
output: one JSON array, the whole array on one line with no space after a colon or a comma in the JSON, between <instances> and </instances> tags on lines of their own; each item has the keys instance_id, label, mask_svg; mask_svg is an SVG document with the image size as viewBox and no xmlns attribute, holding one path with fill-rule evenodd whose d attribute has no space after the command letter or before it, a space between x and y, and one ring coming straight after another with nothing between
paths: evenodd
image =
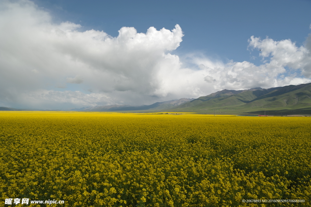
<instances>
[{"instance_id":1,"label":"white and grey cloud bank stretching above the mountains","mask_svg":"<svg viewBox=\"0 0 311 207\"><path fill-rule=\"evenodd\" d=\"M250 37L261 65L192 56L184 68L172 54L183 31L122 27L117 37L72 22L55 24L33 2L0 3L0 106L61 109L151 104L222 89L277 87L311 81L311 39Z\"/></svg>"}]
</instances>

